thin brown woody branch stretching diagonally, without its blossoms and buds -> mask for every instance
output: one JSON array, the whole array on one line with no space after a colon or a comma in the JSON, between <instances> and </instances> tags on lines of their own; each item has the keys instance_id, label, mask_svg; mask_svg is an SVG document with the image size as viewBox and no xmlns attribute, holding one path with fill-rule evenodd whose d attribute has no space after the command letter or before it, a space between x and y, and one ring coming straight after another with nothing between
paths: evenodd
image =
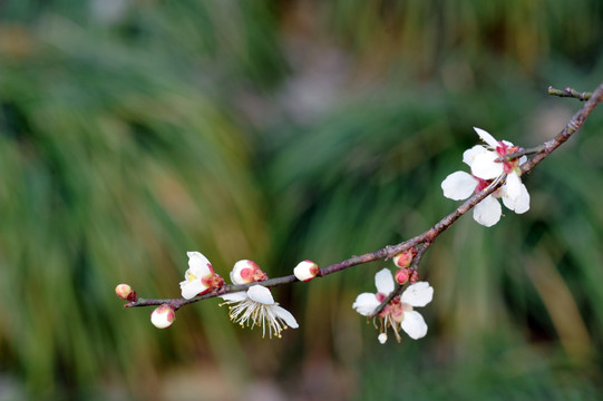
<instances>
[{"instance_id":1,"label":"thin brown woody branch stretching diagonally, without its blossoms and buds","mask_svg":"<svg viewBox=\"0 0 603 401\"><path fill-rule=\"evenodd\" d=\"M589 100L572 117L572 119L567 124L567 126L557 136L555 136L553 139L544 143L544 144L542 144L542 145L539 145L537 147L529 148L529 149L523 149L523 150L521 150L521 151L518 151L516 154L507 155L505 157L506 159L510 159L510 158L516 158L516 157L521 157L521 156L528 155L528 154L536 154L532 159L527 160L526 163L524 163L521 166L522 173L529 173L538 163L541 163L543 159L548 157L551 155L551 153L553 153L560 145L565 143L574 133L576 133L577 129L580 127L582 127L585 119L589 117L589 115L592 113L592 110L595 108L595 106L599 105L599 102L601 102L601 100L603 99L603 84L601 84L596 88L596 90L594 92L592 92L592 94L587 94L587 92L580 94L580 92L576 91L575 94L577 94L577 96L574 96L575 95L574 90L570 89L570 88L566 88L566 90L564 91L565 95L560 95L556 91L557 90L554 89L554 88L548 88L548 92L551 95L563 96L563 97L576 97L576 98L578 98L581 100L585 100L585 99L589 99ZM503 158L500 159L500 162L503 162ZM463 216L464 214L469 212L474 206L476 206L479 202L482 202L484 198L486 198L486 196L490 195L493 192L498 189L504 184L504 179L505 179L505 176L502 176L500 179L495 180L493 184L490 184L484 190L482 190L482 192L473 195L471 197L469 197L467 200L465 200L465 203L463 203L460 206L458 206L453 213L450 213L449 215L447 215L446 217L440 219L436 225L434 225L431 228L429 228L425 233L419 234L419 235L417 235L417 236L415 236L415 237L412 237L410 239L407 239L405 242L401 242L401 243L399 243L397 245L392 245L392 246L388 245L382 250L371 252L371 253L366 253L366 254L362 254L362 255L359 255L359 256L352 256L352 257L350 257L350 258L348 258L346 261L342 261L342 262L329 265L327 267L323 267L323 268L320 270L320 273L319 273L318 276L327 276L329 274L333 274L333 273L343 271L343 270L346 270L348 267L364 264L364 263L369 263L369 262L389 260L389 258L392 258L393 256L396 256L397 254L409 250L412 246L417 246L417 245L422 244L422 246L418 251L417 255L412 260L411 268L416 270L418 267L421 258L422 258L422 255L425 254L425 252L434 243L434 239L438 235L440 235L444 231L446 231L448 227L450 227L460 216ZM273 287L273 286L279 286L279 285L284 285L284 284L291 284L291 283L296 282L296 281L298 280L295 278L294 275L288 275L288 276L282 276L282 277L278 277L278 278L266 280L266 281L261 282L261 284L266 286L266 287ZM135 307L135 306L150 306L150 305L171 304L172 306L174 306L175 310L177 310L177 309L179 309L179 307L182 307L184 305L195 303L195 302L198 302L198 301L202 301L202 300L207 300L207 299L211 299L211 297L215 297L215 296L220 296L220 295L224 295L224 294L233 293L233 292L237 292L237 291L245 291L250 286L255 285L255 284L257 284L257 283L244 284L244 285L224 285L221 288L211 291L211 292L208 292L206 294L203 294L203 295L200 295L200 296L195 296L194 299L191 299L191 300L184 300L182 297L181 299L165 299L165 300L142 299L140 297L137 301L126 303L124 306L125 307ZM400 291L400 288L401 288L401 286L397 285L396 290L392 292L392 294L390 294L390 296L393 297ZM388 301L388 300L386 300L386 301ZM391 299L389 299L389 301L391 301ZM378 314L386 304L387 304L387 302L383 302L373 312L373 315Z\"/></svg>"}]
</instances>

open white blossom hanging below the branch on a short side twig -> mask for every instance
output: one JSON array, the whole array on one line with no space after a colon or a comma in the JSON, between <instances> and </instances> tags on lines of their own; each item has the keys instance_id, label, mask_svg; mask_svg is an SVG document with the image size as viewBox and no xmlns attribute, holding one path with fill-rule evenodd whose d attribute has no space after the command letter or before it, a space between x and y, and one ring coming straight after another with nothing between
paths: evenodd
<instances>
[{"instance_id":1,"label":"open white blossom hanging below the branch on a short side twig","mask_svg":"<svg viewBox=\"0 0 603 401\"><path fill-rule=\"evenodd\" d=\"M362 293L358 295L352 307L363 316L370 316L375 310L393 291L393 276L388 268L379 271L375 275L377 293ZM421 314L415 307L427 305L434 297L434 288L427 282L418 282L409 285L401 296L395 296L376 319L380 320L380 334L378 340L381 344L387 341L387 329L391 326L396 339L401 327L411 339L418 340L427 334L427 324Z\"/></svg>"}]
</instances>

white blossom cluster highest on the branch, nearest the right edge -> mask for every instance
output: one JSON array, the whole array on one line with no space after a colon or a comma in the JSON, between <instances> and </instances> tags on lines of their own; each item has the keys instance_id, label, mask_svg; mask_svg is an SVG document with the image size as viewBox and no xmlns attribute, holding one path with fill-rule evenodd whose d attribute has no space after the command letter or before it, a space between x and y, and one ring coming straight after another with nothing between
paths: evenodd
<instances>
[{"instance_id":1,"label":"white blossom cluster highest on the branch, nearest the right edge","mask_svg":"<svg viewBox=\"0 0 603 401\"><path fill-rule=\"evenodd\" d=\"M498 223L503 214L500 204L496 198L502 198L503 204L517 214L529 209L529 194L519 177L519 166L526 162L523 156L519 160L497 163L498 157L512 153L512 143L497 141L490 134L480 128L475 128L477 135L488 145L476 145L463 154L463 162L467 164L471 174L455 172L441 183L444 196L454 200L466 199L474 193L486 188L493 180L502 179L506 174L505 183L495 193L488 195L474 207L474 219L490 227Z\"/></svg>"}]
</instances>

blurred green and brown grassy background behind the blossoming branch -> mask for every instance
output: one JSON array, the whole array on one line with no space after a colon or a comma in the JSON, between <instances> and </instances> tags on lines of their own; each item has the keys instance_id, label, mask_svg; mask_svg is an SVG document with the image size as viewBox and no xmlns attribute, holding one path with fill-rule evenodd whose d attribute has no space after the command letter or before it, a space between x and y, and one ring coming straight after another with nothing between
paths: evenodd
<instances>
[{"instance_id":1,"label":"blurred green and brown grassy background behind the blossoming branch","mask_svg":"<svg viewBox=\"0 0 603 401\"><path fill-rule=\"evenodd\" d=\"M465 216L420 274L420 341L351 304L372 263L273 291L262 339L218 300L168 330L116 284L179 296L186 251L271 276L451 212L471 127L557 134L603 77L599 0L0 2L0 400L596 400L603 108L524 177L532 207Z\"/></svg>"}]
</instances>

